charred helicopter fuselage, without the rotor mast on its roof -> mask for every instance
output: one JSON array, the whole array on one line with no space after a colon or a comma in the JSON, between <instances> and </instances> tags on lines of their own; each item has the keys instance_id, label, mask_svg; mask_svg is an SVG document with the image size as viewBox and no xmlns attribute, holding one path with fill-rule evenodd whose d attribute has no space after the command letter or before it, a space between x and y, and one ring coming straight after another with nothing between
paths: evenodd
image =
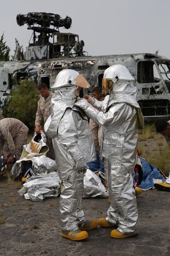
<instances>
[{"instance_id":1,"label":"charred helicopter fuselage, without the rotor mast on its roof","mask_svg":"<svg viewBox=\"0 0 170 256\"><path fill-rule=\"evenodd\" d=\"M146 58L147 56L149 58ZM0 62L1 106L7 93L19 83L19 79L28 77L37 84L45 81L50 87L60 70L70 68L81 73L88 80L92 90L101 85L106 68L112 64L123 64L137 79L137 99L145 120L154 121L162 117L170 119L169 63L169 59L145 54ZM87 92L84 90L84 93Z\"/></svg>"}]
</instances>

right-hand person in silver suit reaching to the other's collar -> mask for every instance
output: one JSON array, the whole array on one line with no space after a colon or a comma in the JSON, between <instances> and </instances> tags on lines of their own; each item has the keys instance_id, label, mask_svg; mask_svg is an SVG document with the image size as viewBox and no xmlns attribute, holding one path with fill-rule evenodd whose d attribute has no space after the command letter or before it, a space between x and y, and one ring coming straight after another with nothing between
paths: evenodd
<instances>
[{"instance_id":1,"label":"right-hand person in silver suit reaching to the other's collar","mask_svg":"<svg viewBox=\"0 0 170 256\"><path fill-rule=\"evenodd\" d=\"M89 95L76 102L103 130L101 154L106 159L110 208L98 224L113 227L111 237L126 238L138 233L138 208L133 189L137 159L138 128L144 126L137 102L135 79L120 64L107 68L103 78L104 101Z\"/></svg>"}]
</instances>

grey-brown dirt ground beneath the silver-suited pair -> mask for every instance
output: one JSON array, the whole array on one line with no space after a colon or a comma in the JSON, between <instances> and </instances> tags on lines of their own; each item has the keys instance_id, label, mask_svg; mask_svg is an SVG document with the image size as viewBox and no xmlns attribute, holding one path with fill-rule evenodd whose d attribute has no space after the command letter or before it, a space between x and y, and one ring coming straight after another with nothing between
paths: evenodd
<instances>
[{"instance_id":1,"label":"grey-brown dirt ground beneath the silver-suited pair","mask_svg":"<svg viewBox=\"0 0 170 256\"><path fill-rule=\"evenodd\" d=\"M21 182L0 180L0 255L3 256L169 256L169 192L157 189L137 197L139 235L110 237L112 228L97 227L89 238L74 242L61 237L59 197L37 203L21 197ZM107 199L83 200L87 219L105 216Z\"/></svg>"}]
</instances>

